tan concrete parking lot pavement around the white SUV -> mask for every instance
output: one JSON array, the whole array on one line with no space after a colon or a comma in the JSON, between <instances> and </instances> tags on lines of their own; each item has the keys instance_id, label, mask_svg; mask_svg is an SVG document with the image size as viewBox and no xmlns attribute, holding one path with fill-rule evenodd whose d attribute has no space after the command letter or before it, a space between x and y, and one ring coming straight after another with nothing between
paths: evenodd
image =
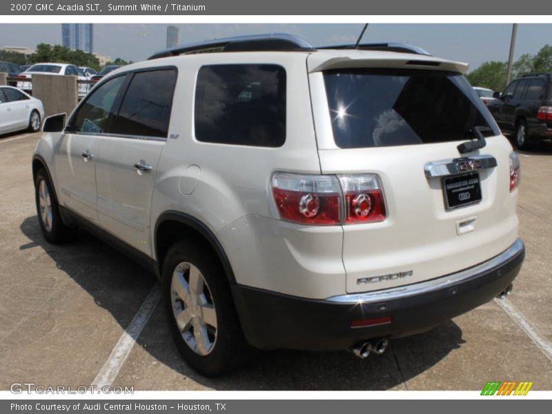
<instances>
[{"instance_id":1,"label":"tan concrete parking lot pavement around the white SUV","mask_svg":"<svg viewBox=\"0 0 552 414\"><path fill-rule=\"evenodd\" d=\"M493 380L552 390L551 144L520 152L526 259L506 302L395 339L381 356L259 352L241 371L208 379L180 358L159 305L113 371L113 350L156 280L83 231L70 244L44 241L30 170L38 138L0 136L1 390L14 382L86 386L106 367L109 384L135 390L481 390Z\"/></svg>"}]
</instances>

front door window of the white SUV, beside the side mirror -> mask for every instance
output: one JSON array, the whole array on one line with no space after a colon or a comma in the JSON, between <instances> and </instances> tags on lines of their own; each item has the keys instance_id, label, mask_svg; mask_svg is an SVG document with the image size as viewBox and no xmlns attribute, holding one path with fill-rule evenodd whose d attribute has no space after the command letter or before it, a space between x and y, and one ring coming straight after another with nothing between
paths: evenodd
<instances>
[{"instance_id":1,"label":"front door window of the white SUV, beside the side mirror","mask_svg":"<svg viewBox=\"0 0 552 414\"><path fill-rule=\"evenodd\" d=\"M110 79L93 90L73 115L69 130L71 132L110 132L108 121L113 115L115 98L125 79L125 76Z\"/></svg>"}]
</instances>

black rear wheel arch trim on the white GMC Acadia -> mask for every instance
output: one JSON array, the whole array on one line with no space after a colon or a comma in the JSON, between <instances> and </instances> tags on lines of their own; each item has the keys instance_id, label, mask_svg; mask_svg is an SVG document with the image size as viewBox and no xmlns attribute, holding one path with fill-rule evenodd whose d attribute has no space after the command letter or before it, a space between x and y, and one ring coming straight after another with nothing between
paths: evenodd
<instances>
[{"instance_id":1,"label":"black rear wheel arch trim on the white GMC Acadia","mask_svg":"<svg viewBox=\"0 0 552 414\"><path fill-rule=\"evenodd\" d=\"M222 267L226 279L230 284L235 284L236 279L228 256L215 234L203 222L195 217L179 211L166 211L159 215L155 223L154 249L159 270L162 266L168 249L180 239L197 239L198 243L215 253Z\"/></svg>"}]
</instances>

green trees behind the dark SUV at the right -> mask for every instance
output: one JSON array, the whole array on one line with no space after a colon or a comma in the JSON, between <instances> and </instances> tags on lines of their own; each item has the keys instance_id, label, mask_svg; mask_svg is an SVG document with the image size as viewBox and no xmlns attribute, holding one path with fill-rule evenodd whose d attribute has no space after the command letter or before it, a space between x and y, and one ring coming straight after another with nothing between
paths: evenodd
<instances>
[{"instance_id":1,"label":"green trees behind the dark SUV at the right","mask_svg":"<svg viewBox=\"0 0 552 414\"><path fill-rule=\"evenodd\" d=\"M506 62L485 62L466 78L473 86L502 91L506 82ZM512 65L512 79L528 73L552 72L552 45L544 45L536 55L525 53Z\"/></svg>"}]
</instances>

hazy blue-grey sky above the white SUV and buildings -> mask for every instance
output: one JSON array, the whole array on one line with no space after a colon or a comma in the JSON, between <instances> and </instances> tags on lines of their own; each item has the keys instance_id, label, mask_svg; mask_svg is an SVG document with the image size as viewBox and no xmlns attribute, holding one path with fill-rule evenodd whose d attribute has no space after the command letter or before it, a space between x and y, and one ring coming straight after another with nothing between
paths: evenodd
<instances>
[{"instance_id":1,"label":"hazy blue-grey sky above the white SUV and buildings","mask_svg":"<svg viewBox=\"0 0 552 414\"><path fill-rule=\"evenodd\" d=\"M94 51L115 59L141 61L166 46L168 24L94 24ZM297 34L313 46L354 43L363 24L359 23L179 23L181 43L217 37L285 32ZM511 24L373 23L363 41L402 41L424 48L432 55L469 63L470 70L484 61L507 61ZM0 47L38 43L61 44L61 24L0 23ZM514 59L538 52L552 43L552 24L520 24L517 27Z\"/></svg>"}]
</instances>

